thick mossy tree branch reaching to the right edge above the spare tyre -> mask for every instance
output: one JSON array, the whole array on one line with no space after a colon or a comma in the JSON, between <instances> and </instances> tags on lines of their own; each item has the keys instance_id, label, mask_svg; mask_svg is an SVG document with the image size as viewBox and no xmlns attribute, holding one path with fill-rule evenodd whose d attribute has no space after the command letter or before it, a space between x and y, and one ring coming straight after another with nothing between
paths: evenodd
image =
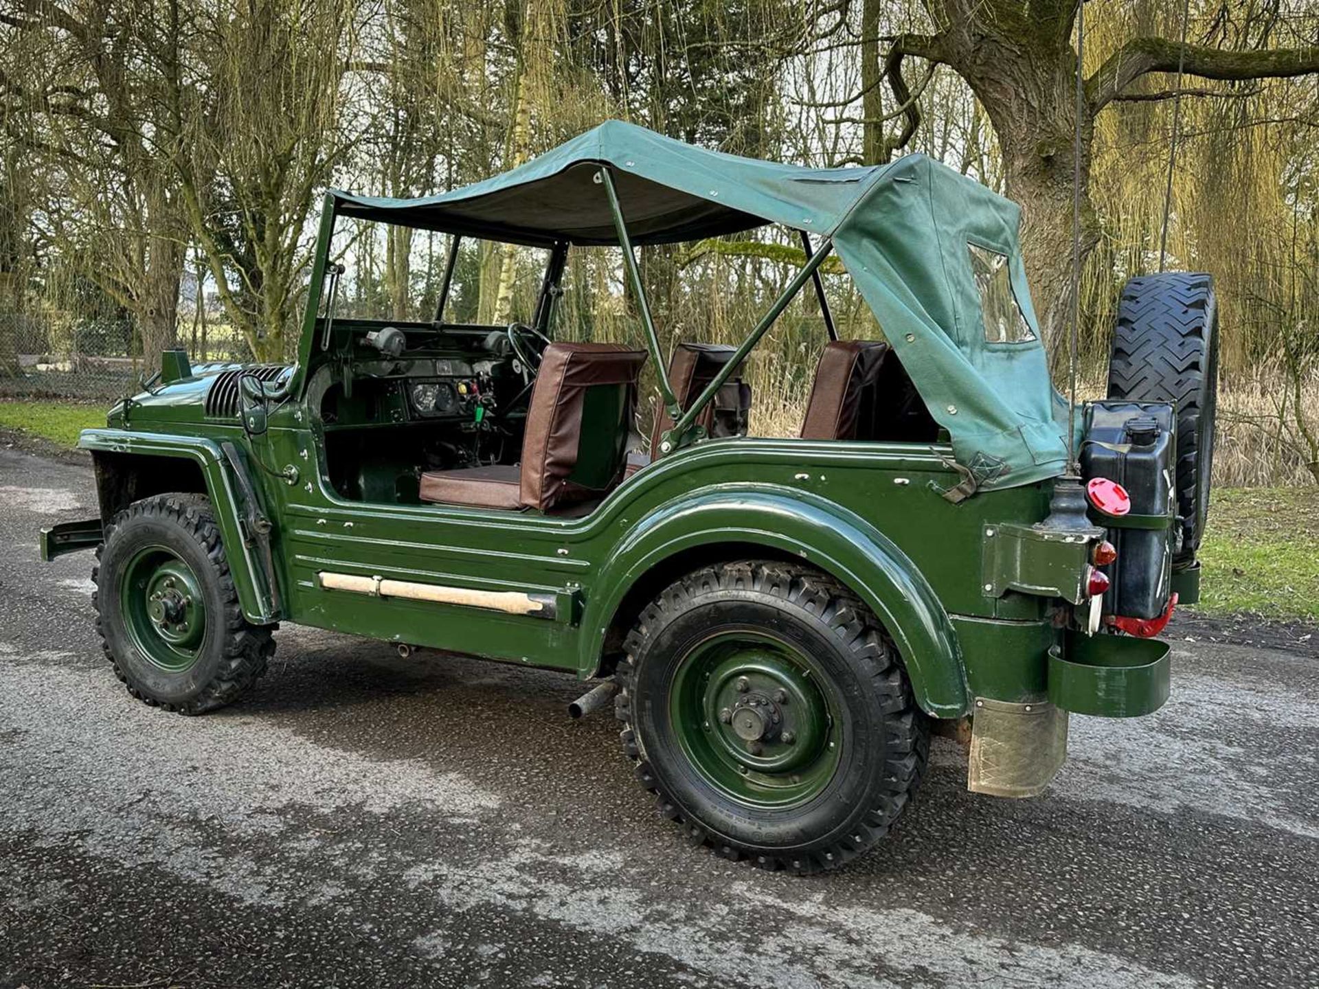
<instances>
[{"instance_id":1,"label":"thick mossy tree branch reaching to the right edge above the spare tyre","mask_svg":"<svg viewBox=\"0 0 1319 989\"><path fill-rule=\"evenodd\" d=\"M1167 38L1132 38L1086 82L1091 112L1107 107L1149 73L1175 73L1182 45ZM1200 79L1285 79L1319 73L1319 47L1224 51L1187 45L1182 70Z\"/></svg>"}]
</instances>

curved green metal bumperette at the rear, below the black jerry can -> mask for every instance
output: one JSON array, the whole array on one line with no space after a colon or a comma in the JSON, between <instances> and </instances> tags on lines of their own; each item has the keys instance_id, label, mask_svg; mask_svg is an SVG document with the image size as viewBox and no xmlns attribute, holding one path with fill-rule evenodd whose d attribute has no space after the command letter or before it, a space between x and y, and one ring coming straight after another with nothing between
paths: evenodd
<instances>
[{"instance_id":1,"label":"curved green metal bumperette at the rear, below the black jerry can","mask_svg":"<svg viewBox=\"0 0 1319 989\"><path fill-rule=\"evenodd\" d=\"M1169 653L1154 638L1068 634L1049 653L1049 700L1078 715L1153 713L1167 700Z\"/></svg>"}]
</instances>

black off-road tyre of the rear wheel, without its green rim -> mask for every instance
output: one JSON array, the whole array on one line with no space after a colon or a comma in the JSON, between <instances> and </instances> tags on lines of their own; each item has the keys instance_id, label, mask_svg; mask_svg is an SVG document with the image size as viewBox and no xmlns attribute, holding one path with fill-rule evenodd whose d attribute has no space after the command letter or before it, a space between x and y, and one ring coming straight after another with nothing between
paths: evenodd
<instances>
[{"instance_id":1,"label":"black off-road tyre of the rear wheel, without its green rim","mask_svg":"<svg viewBox=\"0 0 1319 989\"><path fill-rule=\"evenodd\" d=\"M824 789L801 806L739 803L675 741L677 670L699 642L739 628L799 645L836 692L843 752ZM929 721L892 640L860 600L810 567L745 560L683 576L641 612L616 678L615 715L637 779L661 816L727 858L797 873L838 868L888 833L926 769Z\"/></svg>"}]
</instances>

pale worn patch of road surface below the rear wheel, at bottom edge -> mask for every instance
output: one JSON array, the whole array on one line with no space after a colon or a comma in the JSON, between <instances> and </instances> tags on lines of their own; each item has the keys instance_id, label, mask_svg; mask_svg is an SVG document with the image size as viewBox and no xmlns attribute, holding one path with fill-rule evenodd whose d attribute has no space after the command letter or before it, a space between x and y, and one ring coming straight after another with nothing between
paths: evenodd
<instances>
[{"instance_id":1,"label":"pale worn patch of road surface below the rear wheel, at bottom edge","mask_svg":"<svg viewBox=\"0 0 1319 989\"><path fill-rule=\"evenodd\" d=\"M588 868L582 868L588 866ZM656 897L621 858L547 854L537 843L462 866L429 862L405 878L448 910L496 905L665 955L712 980L783 989L907 989L943 985L1054 989L1184 989L1167 974L1079 945L1009 942L943 923L915 910L836 907L823 897L794 901L752 881L704 909ZM445 930L418 944L442 943ZM987 982L987 980L989 980Z\"/></svg>"}]
</instances>

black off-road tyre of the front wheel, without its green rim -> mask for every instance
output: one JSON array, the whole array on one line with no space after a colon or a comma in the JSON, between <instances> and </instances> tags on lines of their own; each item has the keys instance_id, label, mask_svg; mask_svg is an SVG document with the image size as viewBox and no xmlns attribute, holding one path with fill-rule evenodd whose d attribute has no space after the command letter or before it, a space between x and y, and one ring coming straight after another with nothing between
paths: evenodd
<instances>
[{"instance_id":1,"label":"black off-road tyre of the front wheel, without its green rim","mask_svg":"<svg viewBox=\"0 0 1319 989\"><path fill-rule=\"evenodd\" d=\"M162 670L133 645L120 607L120 568L144 547L160 546L195 575L206 625L193 666ZM106 658L128 692L181 715L215 711L247 694L274 654L277 625L243 617L210 500L173 493L135 501L106 526L92 570L92 607Z\"/></svg>"}]
</instances>

